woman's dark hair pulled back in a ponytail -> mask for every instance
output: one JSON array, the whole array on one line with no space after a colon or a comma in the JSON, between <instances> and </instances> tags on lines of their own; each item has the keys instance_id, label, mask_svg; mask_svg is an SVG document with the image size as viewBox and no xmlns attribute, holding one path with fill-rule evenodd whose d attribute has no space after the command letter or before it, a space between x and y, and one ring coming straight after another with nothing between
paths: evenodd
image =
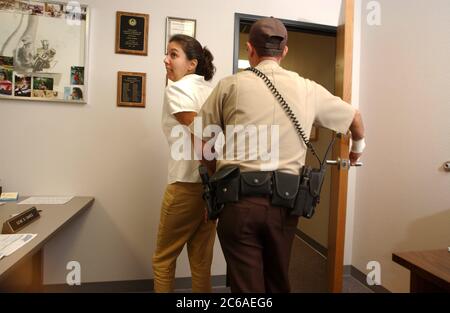
<instances>
[{"instance_id":1,"label":"woman's dark hair pulled back in a ponytail","mask_svg":"<svg viewBox=\"0 0 450 313\"><path fill-rule=\"evenodd\" d=\"M187 35L174 35L169 40L172 41L180 44L188 60L197 60L195 74L203 76L207 81L213 78L216 67L212 63L214 57L208 48L202 48L195 38Z\"/></svg>"}]
</instances>

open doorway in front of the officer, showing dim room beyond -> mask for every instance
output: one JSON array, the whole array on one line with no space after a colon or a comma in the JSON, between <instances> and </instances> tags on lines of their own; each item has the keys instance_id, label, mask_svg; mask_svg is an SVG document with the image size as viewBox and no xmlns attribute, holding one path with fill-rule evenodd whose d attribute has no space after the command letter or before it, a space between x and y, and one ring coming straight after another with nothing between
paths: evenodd
<instances>
[{"instance_id":1,"label":"open doorway in front of the officer, showing dim room beyond","mask_svg":"<svg viewBox=\"0 0 450 313\"><path fill-rule=\"evenodd\" d=\"M234 73L250 66L245 43L251 25L261 16L235 14ZM281 62L283 68L314 80L335 94L337 27L281 20L288 30L289 53ZM325 155L333 132L313 128L310 135L320 158ZM330 158L331 156L329 156ZM316 167L317 160L307 154L306 164ZM291 286L293 292L327 292L328 229L331 202L331 170L327 171L321 193L321 203L314 218L301 218L297 226L291 256Z\"/></svg>"}]
</instances>

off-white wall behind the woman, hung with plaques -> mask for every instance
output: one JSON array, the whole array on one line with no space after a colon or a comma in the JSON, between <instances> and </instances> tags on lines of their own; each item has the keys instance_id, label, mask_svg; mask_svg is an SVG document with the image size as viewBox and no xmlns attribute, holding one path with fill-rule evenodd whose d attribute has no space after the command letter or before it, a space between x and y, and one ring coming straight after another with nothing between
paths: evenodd
<instances>
[{"instance_id":1,"label":"off-white wall behind the woman, hung with plaques","mask_svg":"<svg viewBox=\"0 0 450 313\"><path fill-rule=\"evenodd\" d=\"M45 283L64 283L70 260L82 281L152 278L168 149L160 130L166 16L197 20L215 56L215 81L232 73L234 13L337 25L340 0L85 1L91 8L89 103L0 102L0 179L23 195L92 195L92 209L45 249ZM115 12L150 14L149 55L114 53ZM147 107L117 108L117 71L147 73ZM187 257L177 277L190 276ZM220 245L214 275L225 274Z\"/></svg>"}]
</instances>

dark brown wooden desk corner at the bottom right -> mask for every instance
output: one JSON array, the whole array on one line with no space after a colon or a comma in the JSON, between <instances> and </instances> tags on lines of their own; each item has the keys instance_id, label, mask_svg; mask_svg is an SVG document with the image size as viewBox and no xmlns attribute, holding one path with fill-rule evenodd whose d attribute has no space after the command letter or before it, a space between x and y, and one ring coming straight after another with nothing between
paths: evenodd
<instances>
[{"instance_id":1,"label":"dark brown wooden desk corner at the bottom right","mask_svg":"<svg viewBox=\"0 0 450 313\"><path fill-rule=\"evenodd\" d=\"M411 292L450 292L447 249L393 253L392 260L411 271Z\"/></svg>"}]
</instances>

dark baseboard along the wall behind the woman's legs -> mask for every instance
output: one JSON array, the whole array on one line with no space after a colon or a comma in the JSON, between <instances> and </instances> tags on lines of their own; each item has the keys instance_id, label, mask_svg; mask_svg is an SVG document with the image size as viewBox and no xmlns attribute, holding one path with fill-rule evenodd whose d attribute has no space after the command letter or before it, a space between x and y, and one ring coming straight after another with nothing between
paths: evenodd
<instances>
[{"instance_id":1,"label":"dark baseboard along the wall behind the woman's legs","mask_svg":"<svg viewBox=\"0 0 450 313\"><path fill-rule=\"evenodd\" d=\"M213 287L224 287L225 275L211 277ZM175 289L189 289L192 286L191 277L176 278ZM111 281L84 283L80 286L69 286L66 284L44 285L44 292L50 293L103 293L103 292L153 292L153 279Z\"/></svg>"}]
</instances>

